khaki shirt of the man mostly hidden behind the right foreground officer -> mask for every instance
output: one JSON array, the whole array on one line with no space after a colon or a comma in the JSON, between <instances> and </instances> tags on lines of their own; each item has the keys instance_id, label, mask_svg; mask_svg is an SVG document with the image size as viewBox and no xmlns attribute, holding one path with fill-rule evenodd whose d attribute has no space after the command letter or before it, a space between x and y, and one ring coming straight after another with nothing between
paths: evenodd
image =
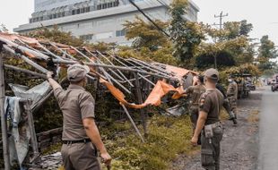
<instances>
[{"instance_id":1,"label":"khaki shirt of the man mostly hidden behind the right foreground officer","mask_svg":"<svg viewBox=\"0 0 278 170\"><path fill-rule=\"evenodd\" d=\"M203 85L190 86L186 89L186 94L190 96L190 107L198 108L201 95L205 92Z\"/></svg>"}]
</instances>

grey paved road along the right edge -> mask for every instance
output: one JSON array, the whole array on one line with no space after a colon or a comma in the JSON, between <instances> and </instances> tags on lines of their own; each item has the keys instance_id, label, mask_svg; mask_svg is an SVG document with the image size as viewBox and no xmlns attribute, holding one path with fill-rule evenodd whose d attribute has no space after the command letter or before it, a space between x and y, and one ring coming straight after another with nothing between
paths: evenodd
<instances>
[{"instance_id":1,"label":"grey paved road along the right edge","mask_svg":"<svg viewBox=\"0 0 278 170\"><path fill-rule=\"evenodd\" d=\"M258 170L278 169L278 92L265 87L259 123Z\"/></svg>"}]
</instances>

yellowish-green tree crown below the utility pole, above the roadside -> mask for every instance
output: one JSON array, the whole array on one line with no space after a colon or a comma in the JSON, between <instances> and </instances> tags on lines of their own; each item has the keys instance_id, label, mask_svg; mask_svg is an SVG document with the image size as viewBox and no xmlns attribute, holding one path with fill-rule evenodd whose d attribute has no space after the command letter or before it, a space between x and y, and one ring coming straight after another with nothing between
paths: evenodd
<instances>
[{"instance_id":1,"label":"yellowish-green tree crown below the utility pole, above the roadside","mask_svg":"<svg viewBox=\"0 0 278 170\"><path fill-rule=\"evenodd\" d=\"M252 24L247 21L226 22L222 30L214 29L208 25L203 26L208 39L214 41L204 42L198 47L198 57L195 58L196 66L204 68L207 64L200 62L205 60L202 60L201 57L205 58L208 55L212 58L216 57L216 65L221 67L253 63L255 45L248 38L248 33L252 27ZM222 60L219 60L218 55L223 52L230 55L222 55Z\"/></svg>"}]
</instances>

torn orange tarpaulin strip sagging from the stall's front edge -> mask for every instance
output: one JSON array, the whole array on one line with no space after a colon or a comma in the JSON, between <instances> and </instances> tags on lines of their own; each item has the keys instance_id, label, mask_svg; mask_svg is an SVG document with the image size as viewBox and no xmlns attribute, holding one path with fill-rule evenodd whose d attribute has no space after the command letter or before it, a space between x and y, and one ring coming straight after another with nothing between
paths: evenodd
<instances>
[{"instance_id":1,"label":"torn orange tarpaulin strip sagging from the stall's front edge","mask_svg":"<svg viewBox=\"0 0 278 170\"><path fill-rule=\"evenodd\" d=\"M176 93L174 94L174 96L172 98L180 98L181 97L181 93L183 92L183 89L178 88L175 89L173 86L169 85L166 82L163 81L157 81L155 87L152 89L151 94L149 95L149 97L143 102L143 104L141 105L135 105L135 104L131 104L128 103L126 101L126 97L124 95L124 93L122 93L119 89L117 89L115 86L113 86L111 83L109 83L108 81L105 81L103 79L100 79L100 83L104 84L109 91L111 92L111 94L117 98L117 100L125 105L125 106L129 106L132 108L143 108L144 106L160 106L161 105L161 98L163 96L165 96L166 94L169 93L169 91L176 91Z\"/></svg>"}]
</instances>

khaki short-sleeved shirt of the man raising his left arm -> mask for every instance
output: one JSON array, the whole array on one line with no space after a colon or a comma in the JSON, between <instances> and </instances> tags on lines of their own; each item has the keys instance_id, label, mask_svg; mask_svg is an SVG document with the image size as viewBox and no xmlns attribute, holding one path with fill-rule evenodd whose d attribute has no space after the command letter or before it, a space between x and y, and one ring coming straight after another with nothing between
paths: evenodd
<instances>
[{"instance_id":1,"label":"khaki short-sleeved shirt of the man raising his left arm","mask_svg":"<svg viewBox=\"0 0 278 170\"><path fill-rule=\"evenodd\" d=\"M63 113L62 140L88 139L84 118L94 118L94 99L83 87L70 85L68 89L55 89L54 96Z\"/></svg>"}]
</instances>

